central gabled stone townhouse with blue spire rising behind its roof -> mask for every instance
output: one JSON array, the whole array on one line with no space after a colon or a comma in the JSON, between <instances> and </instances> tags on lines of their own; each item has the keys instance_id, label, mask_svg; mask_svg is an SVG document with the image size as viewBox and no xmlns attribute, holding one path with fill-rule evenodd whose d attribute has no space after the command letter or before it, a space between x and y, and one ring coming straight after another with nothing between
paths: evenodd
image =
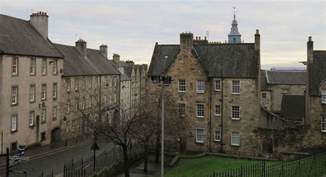
<instances>
[{"instance_id":1,"label":"central gabled stone townhouse with blue spire rising behind its roof","mask_svg":"<svg viewBox=\"0 0 326 177\"><path fill-rule=\"evenodd\" d=\"M188 151L224 150L258 153L261 76L260 34L254 43L243 43L232 21L237 38L227 43L209 43L193 34L180 34L180 44L155 44L149 76L171 76L166 86L186 122L186 137L180 137ZM233 36L232 36L233 38ZM159 86L148 83L149 96Z\"/></svg>"}]
</instances>

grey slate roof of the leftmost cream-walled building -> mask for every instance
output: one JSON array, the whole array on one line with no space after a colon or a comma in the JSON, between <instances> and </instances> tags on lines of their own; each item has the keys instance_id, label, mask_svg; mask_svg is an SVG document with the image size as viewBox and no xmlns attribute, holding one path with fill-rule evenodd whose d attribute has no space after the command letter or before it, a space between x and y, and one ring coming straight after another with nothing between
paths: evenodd
<instances>
[{"instance_id":1,"label":"grey slate roof of the leftmost cream-walled building","mask_svg":"<svg viewBox=\"0 0 326 177\"><path fill-rule=\"evenodd\" d=\"M29 21L0 14L0 53L63 58Z\"/></svg>"}]
</instances>

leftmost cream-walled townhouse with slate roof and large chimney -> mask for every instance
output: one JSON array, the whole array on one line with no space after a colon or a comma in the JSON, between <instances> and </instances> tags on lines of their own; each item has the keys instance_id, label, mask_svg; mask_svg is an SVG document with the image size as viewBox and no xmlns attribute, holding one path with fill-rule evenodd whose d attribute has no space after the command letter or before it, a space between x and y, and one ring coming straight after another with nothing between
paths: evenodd
<instances>
[{"instance_id":1,"label":"leftmost cream-walled townhouse with slate roof and large chimney","mask_svg":"<svg viewBox=\"0 0 326 177\"><path fill-rule=\"evenodd\" d=\"M1 153L47 144L60 127L63 55L48 39L48 15L30 20L0 14Z\"/></svg>"}]
</instances>

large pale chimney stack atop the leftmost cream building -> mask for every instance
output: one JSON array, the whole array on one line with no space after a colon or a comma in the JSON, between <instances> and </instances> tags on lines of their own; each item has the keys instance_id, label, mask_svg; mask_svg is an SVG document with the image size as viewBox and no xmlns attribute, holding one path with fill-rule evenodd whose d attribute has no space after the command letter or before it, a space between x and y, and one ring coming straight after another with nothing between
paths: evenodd
<instances>
[{"instance_id":1,"label":"large pale chimney stack atop the leftmost cream building","mask_svg":"<svg viewBox=\"0 0 326 177\"><path fill-rule=\"evenodd\" d=\"M42 37L47 39L49 28L49 16L46 12L37 12L30 15L30 24L37 30Z\"/></svg>"}]
</instances>

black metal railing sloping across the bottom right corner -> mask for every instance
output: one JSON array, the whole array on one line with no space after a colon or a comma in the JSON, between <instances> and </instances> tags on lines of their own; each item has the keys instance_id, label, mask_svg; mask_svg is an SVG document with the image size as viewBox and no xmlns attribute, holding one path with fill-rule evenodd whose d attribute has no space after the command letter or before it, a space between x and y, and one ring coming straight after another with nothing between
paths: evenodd
<instances>
[{"instance_id":1,"label":"black metal railing sloping across the bottom right corner","mask_svg":"<svg viewBox=\"0 0 326 177\"><path fill-rule=\"evenodd\" d=\"M206 177L320 177L326 174L326 153L275 165L265 161L230 171L209 174Z\"/></svg>"}]
</instances>

